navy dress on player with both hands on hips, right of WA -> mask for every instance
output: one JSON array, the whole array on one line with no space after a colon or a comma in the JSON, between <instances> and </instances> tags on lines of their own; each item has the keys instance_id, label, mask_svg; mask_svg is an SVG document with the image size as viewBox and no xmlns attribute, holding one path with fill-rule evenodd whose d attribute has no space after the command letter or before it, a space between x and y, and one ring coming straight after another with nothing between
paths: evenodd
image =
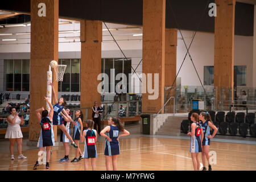
<instances>
[{"instance_id":1,"label":"navy dress on player with both hands on hips, right of WA","mask_svg":"<svg viewBox=\"0 0 256 182\"><path fill-rule=\"evenodd\" d=\"M109 136L110 139L112 139L112 142L109 142L108 139L106 139L105 142L105 155L119 155L120 154L120 147L119 147L119 141L117 140L119 136L119 129L117 126L110 125L110 131L109 133L106 133L106 135Z\"/></svg>"}]
</instances>

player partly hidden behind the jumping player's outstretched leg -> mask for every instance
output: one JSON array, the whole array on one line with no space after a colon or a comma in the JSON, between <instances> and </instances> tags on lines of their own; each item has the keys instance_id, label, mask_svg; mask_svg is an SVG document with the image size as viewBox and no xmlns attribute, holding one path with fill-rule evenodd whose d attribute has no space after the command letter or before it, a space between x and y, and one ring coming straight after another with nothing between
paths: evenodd
<instances>
[{"instance_id":1,"label":"player partly hidden behind the jumping player's outstretched leg","mask_svg":"<svg viewBox=\"0 0 256 182\"><path fill-rule=\"evenodd\" d=\"M70 110L69 109L65 109L65 110L66 110L66 113L69 115ZM69 135L71 135L71 130L70 130L71 121L69 120L69 118L65 117L64 114L61 114L61 116L63 118L62 122L66 128L66 131L68 132ZM63 146L65 148L65 156L64 156L64 158L60 159L59 161L60 162L68 162L68 160L69 160L69 158L68 158L68 155L69 155L68 143L70 142L70 140L68 139L67 135L65 135L62 131L60 131L60 142L63 142Z\"/></svg>"}]
</instances>

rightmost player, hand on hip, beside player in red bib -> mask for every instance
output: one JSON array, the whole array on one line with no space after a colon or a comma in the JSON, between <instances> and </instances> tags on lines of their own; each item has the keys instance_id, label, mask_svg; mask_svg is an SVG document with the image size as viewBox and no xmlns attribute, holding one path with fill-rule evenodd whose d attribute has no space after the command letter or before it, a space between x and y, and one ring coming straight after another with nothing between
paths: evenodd
<instances>
[{"instance_id":1,"label":"rightmost player, hand on hip, beside player in red bib","mask_svg":"<svg viewBox=\"0 0 256 182\"><path fill-rule=\"evenodd\" d=\"M205 167L205 158L207 158L208 161L208 167L209 171L212 171L212 166L210 165L209 162L209 148L210 148L210 139L213 138L218 129L215 125L213 125L212 119L210 118L209 113L201 112L199 115L199 119L201 120L200 125L202 126L203 132L204 132L204 139L202 142L202 162L203 162L203 170L206 171L207 168ZM210 129L213 129L213 134L210 135Z\"/></svg>"}]
</instances>

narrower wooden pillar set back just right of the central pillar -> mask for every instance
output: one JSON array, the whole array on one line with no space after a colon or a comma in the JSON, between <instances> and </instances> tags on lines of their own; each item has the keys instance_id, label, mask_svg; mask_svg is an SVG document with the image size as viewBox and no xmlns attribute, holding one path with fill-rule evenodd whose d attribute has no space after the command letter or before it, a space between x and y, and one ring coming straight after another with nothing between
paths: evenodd
<instances>
[{"instance_id":1,"label":"narrower wooden pillar set back just right of the central pillar","mask_svg":"<svg viewBox=\"0 0 256 182\"><path fill-rule=\"evenodd\" d=\"M177 58L177 29L166 28L166 53L165 53L165 70L164 86L170 87L176 77L176 58ZM176 86L176 81L173 86ZM168 97L167 97L168 96ZM175 96L175 88L167 90L166 101ZM174 113L174 99L171 99L166 105L167 113Z\"/></svg>"}]
</instances>

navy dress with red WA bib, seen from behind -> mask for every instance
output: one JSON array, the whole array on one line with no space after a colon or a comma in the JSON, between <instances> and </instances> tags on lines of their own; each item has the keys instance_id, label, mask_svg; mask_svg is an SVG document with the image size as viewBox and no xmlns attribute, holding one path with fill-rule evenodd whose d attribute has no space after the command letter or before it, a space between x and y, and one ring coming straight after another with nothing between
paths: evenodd
<instances>
[{"instance_id":1,"label":"navy dress with red WA bib, seen from behind","mask_svg":"<svg viewBox=\"0 0 256 182\"><path fill-rule=\"evenodd\" d=\"M84 140L84 159L97 158L96 150L96 130L85 130L85 140Z\"/></svg>"}]
</instances>

